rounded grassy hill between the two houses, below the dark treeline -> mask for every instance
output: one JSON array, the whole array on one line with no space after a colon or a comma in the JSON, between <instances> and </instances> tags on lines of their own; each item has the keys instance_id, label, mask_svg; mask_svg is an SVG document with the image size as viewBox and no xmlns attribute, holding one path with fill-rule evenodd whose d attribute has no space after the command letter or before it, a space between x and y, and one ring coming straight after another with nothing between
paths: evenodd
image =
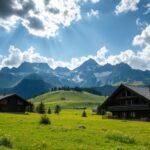
<instances>
[{"instance_id":1,"label":"rounded grassy hill between the two houses, below the dark treeline","mask_svg":"<svg viewBox=\"0 0 150 150\"><path fill-rule=\"evenodd\" d=\"M65 98L65 100L61 100ZM51 106L52 108L59 104L63 108L75 108L75 107L92 107L94 105L100 104L105 100L103 96L93 95L87 92L76 92L76 91L56 91L49 92L31 99L32 102L38 104L39 102L44 102L46 106Z\"/></svg>"}]
</instances>

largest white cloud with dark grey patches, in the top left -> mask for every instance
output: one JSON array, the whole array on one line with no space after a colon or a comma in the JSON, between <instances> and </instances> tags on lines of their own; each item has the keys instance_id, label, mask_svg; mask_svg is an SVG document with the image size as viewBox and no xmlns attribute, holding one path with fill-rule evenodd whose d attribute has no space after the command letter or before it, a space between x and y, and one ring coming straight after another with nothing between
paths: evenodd
<instances>
[{"instance_id":1,"label":"largest white cloud with dark grey patches, in the top left","mask_svg":"<svg viewBox=\"0 0 150 150\"><path fill-rule=\"evenodd\" d=\"M7 2L6 2L7 3ZM0 26L11 30L20 22L29 33L53 37L61 26L68 27L81 19L78 0L9 0L0 10Z\"/></svg>"}]
</instances>

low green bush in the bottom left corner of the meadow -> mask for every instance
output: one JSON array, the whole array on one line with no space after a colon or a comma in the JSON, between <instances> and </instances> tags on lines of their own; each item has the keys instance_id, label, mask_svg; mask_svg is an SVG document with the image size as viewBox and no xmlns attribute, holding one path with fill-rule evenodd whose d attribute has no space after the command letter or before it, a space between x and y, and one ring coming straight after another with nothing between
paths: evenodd
<instances>
[{"instance_id":1,"label":"low green bush in the bottom left corner of the meadow","mask_svg":"<svg viewBox=\"0 0 150 150\"><path fill-rule=\"evenodd\" d=\"M10 137L7 136L0 137L0 146L12 148L12 141Z\"/></svg>"}]
</instances>

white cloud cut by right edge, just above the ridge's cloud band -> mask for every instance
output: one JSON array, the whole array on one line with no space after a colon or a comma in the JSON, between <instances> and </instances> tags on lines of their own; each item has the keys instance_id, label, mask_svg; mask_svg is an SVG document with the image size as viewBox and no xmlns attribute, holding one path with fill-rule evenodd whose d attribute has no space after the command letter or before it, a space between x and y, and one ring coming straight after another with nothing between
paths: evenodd
<instances>
[{"instance_id":1,"label":"white cloud cut by right edge, just above the ridge's cloud band","mask_svg":"<svg viewBox=\"0 0 150 150\"><path fill-rule=\"evenodd\" d=\"M133 45L146 46L150 45L150 25L148 25L141 34L136 35L133 39Z\"/></svg>"}]
</instances>

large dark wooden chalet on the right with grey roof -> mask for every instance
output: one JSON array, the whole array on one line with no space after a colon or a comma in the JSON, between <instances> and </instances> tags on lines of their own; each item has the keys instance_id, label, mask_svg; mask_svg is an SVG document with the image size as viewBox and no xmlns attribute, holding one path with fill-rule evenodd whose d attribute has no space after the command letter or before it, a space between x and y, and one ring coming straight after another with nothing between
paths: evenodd
<instances>
[{"instance_id":1,"label":"large dark wooden chalet on the right with grey roof","mask_svg":"<svg viewBox=\"0 0 150 150\"><path fill-rule=\"evenodd\" d=\"M101 114L110 111L114 118L150 118L150 88L121 84L100 107Z\"/></svg>"}]
</instances>

